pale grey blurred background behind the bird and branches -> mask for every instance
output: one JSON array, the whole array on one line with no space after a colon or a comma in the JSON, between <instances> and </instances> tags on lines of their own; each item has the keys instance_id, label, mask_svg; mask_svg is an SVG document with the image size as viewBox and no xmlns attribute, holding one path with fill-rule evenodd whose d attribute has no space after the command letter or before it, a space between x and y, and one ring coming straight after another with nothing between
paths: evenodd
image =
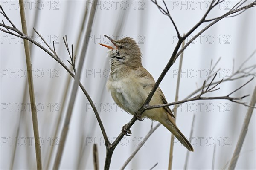
<instances>
[{"instance_id":1,"label":"pale grey blurred background behind the bird and branches","mask_svg":"<svg viewBox=\"0 0 256 170\"><path fill-rule=\"evenodd\" d=\"M209 13L208 19L228 12L239 1L225 1ZM247 3L252 2L249 0ZM61 60L69 65L69 55L62 37L67 35L80 58L81 44L84 40L87 19L92 6L86 0L28 0L26 21L29 36L41 45L45 44L33 32L33 27L55 49ZM210 1L166 0L166 5L175 21L180 34L188 32L209 6ZM19 2L0 0L0 4L12 23L21 30ZM163 3L159 1L163 6ZM84 14L86 20L81 30ZM6 25L8 21L1 16ZM204 80L230 78L256 49L256 10L251 8L231 18L225 18L210 27L198 37L185 51L180 79L179 99L182 100L201 87ZM202 24L186 40L207 26ZM143 54L143 66L155 79L159 77L171 57L177 43L175 29L169 18L163 15L149 0L99 0L88 48L83 65L81 83L90 94L102 118L110 141L121 132L124 124L132 116L120 109L105 84L109 75L107 49L98 43L111 45L103 34L119 40L133 37ZM81 37L79 43L78 39ZM35 143L32 129L32 116L27 89L26 60L23 40L0 32L0 169L35 169ZM30 43L31 44L31 43ZM43 169L52 169L63 120L70 98L70 75L43 50L31 44L31 57L34 78L35 100L38 111L39 133ZM255 53L243 68L254 65ZM214 71L210 69L221 57ZM79 59L76 60L77 62ZM211 64L212 62L212 64ZM76 63L78 66L78 63ZM172 66L160 84L168 102L175 100L177 69L179 59ZM255 75L254 75L255 76ZM219 85L220 90L208 96L227 95L248 81L252 76ZM233 96L252 94L255 80L237 91ZM65 95L66 94L66 95ZM194 95L195 96L195 95ZM249 96L244 102L250 102ZM66 98L66 100L64 100ZM65 102L63 102L65 101ZM173 107L172 107L173 108ZM247 107L227 100L193 101L182 104L177 109L177 126L189 138L192 118L195 115L194 133L190 137L194 152L190 153L188 169L212 169L215 146L214 169L227 169L239 138ZM59 123L58 123L59 122ZM157 123L154 122L153 126ZM131 128L132 135L124 137L113 153L111 169L119 169L133 150L144 140L151 127L151 120L136 121ZM105 143L93 109L81 89L78 89L70 122L67 142L60 169L93 169L93 144L97 144L99 168L105 162ZM57 130L56 130L57 129ZM256 169L256 117L253 112L247 136L237 162L236 169ZM160 126L146 141L141 150L126 167L127 169L167 169L169 161L171 133ZM15 146L16 145L16 146ZM186 148L175 142L173 169L183 169Z\"/></svg>"}]
</instances>

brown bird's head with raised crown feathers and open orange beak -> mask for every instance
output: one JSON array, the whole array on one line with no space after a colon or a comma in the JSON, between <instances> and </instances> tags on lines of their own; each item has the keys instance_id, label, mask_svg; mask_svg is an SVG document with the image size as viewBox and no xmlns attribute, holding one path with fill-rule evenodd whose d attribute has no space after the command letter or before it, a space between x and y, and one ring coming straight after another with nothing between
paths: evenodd
<instances>
[{"instance_id":1,"label":"brown bird's head with raised crown feathers and open orange beak","mask_svg":"<svg viewBox=\"0 0 256 170\"><path fill-rule=\"evenodd\" d=\"M100 45L108 48L108 57L111 58L111 61L119 62L132 68L142 66L140 47L133 38L125 37L121 40L113 40L107 35L104 36L107 37L115 46L114 48L100 43Z\"/></svg>"}]
</instances>

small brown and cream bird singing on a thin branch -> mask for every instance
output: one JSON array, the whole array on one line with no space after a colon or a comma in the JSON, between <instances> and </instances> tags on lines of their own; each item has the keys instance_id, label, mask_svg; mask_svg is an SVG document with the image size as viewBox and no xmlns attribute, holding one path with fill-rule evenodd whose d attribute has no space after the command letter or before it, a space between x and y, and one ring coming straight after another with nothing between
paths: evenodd
<instances>
[{"instance_id":1,"label":"small brown and cream bird singing on a thin branch","mask_svg":"<svg viewBox=\"0 0 256 170\"><path fill-rule=\"evenodd\" d=\"M125 37L121 40L113 40L111 37L104 36L115 46L113 48L100 44L108 48L107 53L108 57L110 57L111 71L107 88L119 107L131 115L136 115L151 92L151 89L154 87L154 78L142 66L140 47L134 39ZM166 103L166 98L158 87L149 104L157 105ZM168 106L146 110L141 117L160 122L188 150L194 151L189 141L175 124L175 117Z\"/></svg>"}]
</instances>

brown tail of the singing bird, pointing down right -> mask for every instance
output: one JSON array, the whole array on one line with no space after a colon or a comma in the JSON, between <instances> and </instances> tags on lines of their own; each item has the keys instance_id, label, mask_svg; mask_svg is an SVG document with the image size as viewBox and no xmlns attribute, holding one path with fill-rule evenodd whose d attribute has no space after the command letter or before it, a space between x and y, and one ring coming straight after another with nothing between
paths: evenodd
<instances>
[{"instance_id":1,"label":"brown tail of the singing bird, pointing down right","mask_svg":"<svg viewBox=\"0 0 256 170\"><path fill-rule=\"evenodd\" d=\"M181 144L183 144L184 147L186 147L189 151L194 151L193 147L189 143L189 141L186 139L186 137L180 132L179 128L176 126L175 121L171 116L169 117L169 121L166 120L166 122L160 122L163 124L164 127L166 127L175 137L180 141Z\"/></svg>"}]
</instances>

